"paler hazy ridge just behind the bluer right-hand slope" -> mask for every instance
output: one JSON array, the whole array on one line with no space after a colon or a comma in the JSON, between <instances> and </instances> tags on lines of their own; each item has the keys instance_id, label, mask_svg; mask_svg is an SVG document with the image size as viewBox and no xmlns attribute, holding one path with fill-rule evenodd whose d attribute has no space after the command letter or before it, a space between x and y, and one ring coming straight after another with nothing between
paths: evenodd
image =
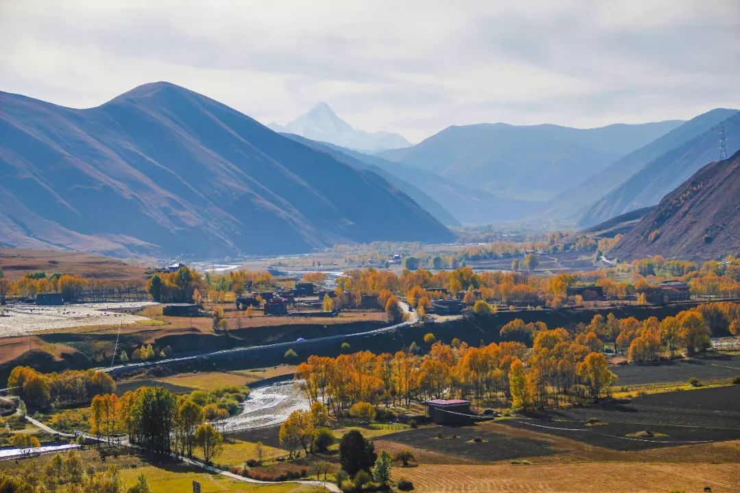
<instances>
[{"instance_id":1,"label":"paler hazy ridge just behind the bluer right-hand slope","mask_svg":"<svg viewBox=\"0 0 740 493\"><path fill-rule=\"evenodd\" d=\"M736 112L736 109L713 109L682 123L665 135L614 161L598 174L562 192L548 203L543 209L542 215L560 219L581 217L596 200L619 187L644 166L689 140L702 135L722 120L736 114ZM656 200L650 205L656 204L659 199L660 197L656 197ZM585 223L593 224L599 222L599 219L606 220L608 217L602 218L601 215L598 218L589 217Z\"/></svg>"}]
</instances>

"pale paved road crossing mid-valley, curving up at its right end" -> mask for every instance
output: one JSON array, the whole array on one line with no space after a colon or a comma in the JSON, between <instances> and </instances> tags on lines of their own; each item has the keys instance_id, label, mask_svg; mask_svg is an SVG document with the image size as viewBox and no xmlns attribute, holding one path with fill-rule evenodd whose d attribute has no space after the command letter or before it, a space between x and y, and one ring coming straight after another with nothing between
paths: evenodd
<instances>
[{"instance_id":1,"label":"pale paved road crossing mid-valley, curving up at its right end","mask_svg":"<svg viewBox=\"0 0 740 493\"><path fill-rule=\"evenodd\" d=\"M128 371L128 370L133 370L136 368L153 367L153 366L159 366L159 365L170 364L170 363L178 363L181 361L193 361L193 360L198 360L201 358L213 358L217 356L227 356L231 354L252 353L252 352L259 352L260 350L266 350L266 349L277 349L280 347L284 347L288 349L289 347L299 347L301 345L312 344L316 342L338 341L338 340L344 340L344 339L351 339L354 337L362 337L362 336L369 336L372 334L392 332L402 327L409 327L419 322L419 316L417 315L416 310L414 310L413 312L409 312L408 305L406 304L406 302L399 302L399 304L403 308L403 311L408 313L409 315L408 322L401 322L400 324L393 324L393 325L389 325L388 327L381 327L380 329L366 330L365 332L357 332L353 334L342 334L338 336L316 337L314 339L304 339L302 341L277 342L276 344L264 344L261 346L233 347L232 349L213 351L211 353L201 353L201 354L194 355L194 356L181 356L179 358L160 359L158 361L143 361L141 363L120 364L120 365L113 366L113 367L106 367L106 368L101 367L101 368L98 368L97 370L101 370L107 373L118 373L124 370Z\"/></svg>"}]
</instances>

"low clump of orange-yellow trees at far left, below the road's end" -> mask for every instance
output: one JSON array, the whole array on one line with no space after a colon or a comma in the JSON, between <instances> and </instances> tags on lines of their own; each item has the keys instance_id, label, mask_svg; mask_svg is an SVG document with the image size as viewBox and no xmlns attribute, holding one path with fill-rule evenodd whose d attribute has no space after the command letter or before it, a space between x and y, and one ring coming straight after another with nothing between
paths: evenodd
<instances>
[{"instance_id":1,"label":"low clump of orange-yellow trees at far left, below the road's end","mask_svg":"<svg viewBox=\"0 0 740 493\"><path fill-rule=\"evenodd\" d=\"M87 403L93 395L115 392L115 381L97 370L44 374L31 367L15 367L7 379L7 387L27 404L47 409L52 404Z\"/></svg>"}]
</instances>

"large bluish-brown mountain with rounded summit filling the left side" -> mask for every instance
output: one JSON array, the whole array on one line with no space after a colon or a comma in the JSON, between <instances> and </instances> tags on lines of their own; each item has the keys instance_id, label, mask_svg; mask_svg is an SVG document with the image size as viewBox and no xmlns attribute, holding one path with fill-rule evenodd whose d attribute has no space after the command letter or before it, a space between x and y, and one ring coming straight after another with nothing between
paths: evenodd
<instances>
[{"instance_id":1,"label":"large bluish-brown mountain with rounded summit filling the left side","mask_svg":"<svg viewBox=\"0 0 740 493\"><path fill-rule=\"evenodd\" d=\"M201 256L452 234L406 194L167 83L91 109L0 92L0 245Z\"/></svg>"}]
</instances>

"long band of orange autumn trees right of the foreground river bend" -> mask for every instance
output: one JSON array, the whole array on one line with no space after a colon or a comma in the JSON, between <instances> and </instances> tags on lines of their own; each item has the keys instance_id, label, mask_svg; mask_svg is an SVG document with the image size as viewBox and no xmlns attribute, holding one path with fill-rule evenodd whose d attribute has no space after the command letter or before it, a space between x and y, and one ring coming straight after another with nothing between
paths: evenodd
<instances>
[{"instance_id":1,"label":"long band of orange autumn trees right of the foreground river bend","mask_svg":"<svg viewBox=\"0 0 740 493\"><path fill-rule=\"evenodd\" d=\"M454 339L431 344L423 356L412 351L310 356L297 367L296 378L309 401L334 414L362 402L402 405L440 395L545 407L563 397L597 399L616 381L603 354L564 329L540 330L529 354L520 342L471 347Z\"/></svg>"}]
</instances>

